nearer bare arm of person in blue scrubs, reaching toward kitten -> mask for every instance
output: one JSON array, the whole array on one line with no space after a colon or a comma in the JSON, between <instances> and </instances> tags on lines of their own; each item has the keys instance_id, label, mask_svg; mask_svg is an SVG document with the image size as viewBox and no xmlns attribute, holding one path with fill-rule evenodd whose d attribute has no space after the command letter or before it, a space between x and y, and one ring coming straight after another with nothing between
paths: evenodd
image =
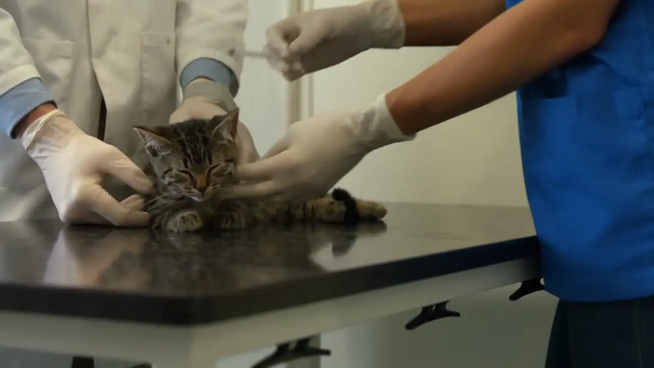
<instances>
[{"instance_id":1,"label":"nearer bare arm of person in blue scrubs, reaching toward kitten","mask_svg":"<svg viewBox=\"0 0 654 368\"><path fill-rule=\"evenodd\" d=\"M526 0L388 92L388 108L414 134L505 96L596 45L617 3Z\"/></svg>"}]
</instances>

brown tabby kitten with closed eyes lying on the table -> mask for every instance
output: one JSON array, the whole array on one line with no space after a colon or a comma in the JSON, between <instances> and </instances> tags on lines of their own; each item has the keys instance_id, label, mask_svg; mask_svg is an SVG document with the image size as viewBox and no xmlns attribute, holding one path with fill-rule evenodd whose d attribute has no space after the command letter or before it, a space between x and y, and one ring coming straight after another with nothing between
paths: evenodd
<instances>
[{"instance_id":1,"label":"brown tabby kitten with closed eyes lying on the table","mask_svg":"<svg viewBox=\"0 0 654 368\"><path fill-rule=\"evenodd\" d=\"M145 172L156 183L156 193L146 198L145 205L152 227L191 232L286 219L355 223L386 215L381 204L355 199L343 189L301 203L222 200L220 194L235 184L238 122L236 109L211 120L134 128L150 157Z\"/></svg>"}]
</instances>

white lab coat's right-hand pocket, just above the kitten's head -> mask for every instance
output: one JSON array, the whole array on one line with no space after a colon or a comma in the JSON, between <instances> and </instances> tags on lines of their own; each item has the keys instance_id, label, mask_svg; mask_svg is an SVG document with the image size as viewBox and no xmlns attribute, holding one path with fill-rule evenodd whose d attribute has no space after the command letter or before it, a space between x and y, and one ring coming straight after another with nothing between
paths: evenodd
<instances>
[{"instance_id":1,"label":"white lab coat's right-hand pocket, just above the kitten's head","mask_svg":"<svg viewBox=\"0 0 654 368\"><path fill-rule=\"evenodd\" d=\"M177 96L175 33L141 33L141 119L167 123Z\"/></svg>"}]
</instances>

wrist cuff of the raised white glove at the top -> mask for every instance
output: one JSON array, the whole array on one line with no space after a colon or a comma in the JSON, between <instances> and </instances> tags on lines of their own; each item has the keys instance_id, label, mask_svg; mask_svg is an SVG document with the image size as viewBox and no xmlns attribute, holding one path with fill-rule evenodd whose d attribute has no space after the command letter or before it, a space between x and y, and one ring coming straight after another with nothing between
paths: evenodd
<instances>
[{"instance_id":1,"label":"wrist cuff of the raised white glove at the top","mask_svg":"<svg viewBox=\"0 0 654 368\"><path fill-rule=\"evenodd\" d=\"M372 48L401 48L404 46L406 27L398 0L369 0L361 4L368 7Z\"/></svg>"}]
</instances>

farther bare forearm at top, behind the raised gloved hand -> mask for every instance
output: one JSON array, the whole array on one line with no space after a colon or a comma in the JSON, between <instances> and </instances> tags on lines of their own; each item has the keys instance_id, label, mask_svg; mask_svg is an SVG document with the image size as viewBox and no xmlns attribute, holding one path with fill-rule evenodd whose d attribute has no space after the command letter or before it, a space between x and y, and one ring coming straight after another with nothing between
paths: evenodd
<instances>
[{"instance_id":1,"label":"farther bare forearm at top, behind the raised gloved hand","mask_svg":"<svg viewBox=\"0 0 654 368\"><path fill-rule=\"evenodd\" d=\"M398 0L405 46L459 45L502 14L504 0Z\"/></svg>"}]
</instances>

